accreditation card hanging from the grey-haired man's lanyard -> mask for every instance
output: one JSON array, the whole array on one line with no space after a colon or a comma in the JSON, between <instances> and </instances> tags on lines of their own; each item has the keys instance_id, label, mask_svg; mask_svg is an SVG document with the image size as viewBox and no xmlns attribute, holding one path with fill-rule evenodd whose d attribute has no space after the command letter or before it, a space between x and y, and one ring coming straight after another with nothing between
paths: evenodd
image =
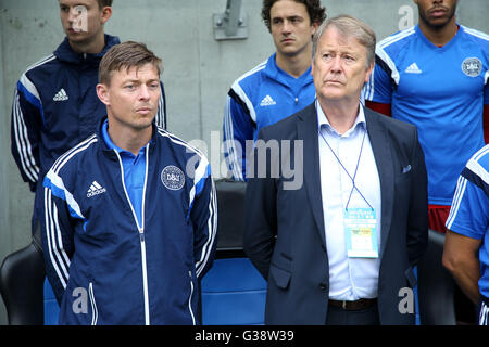
<instances>
[{"instance_id":1,"label":"accreditation card hanging from the grey-haired man's lanyard","mask_svg":"<svg viewBox=\"0 0 489 347\"><path fill-rule=\"evenodd\" d=\"M350 258L378 258L375 209L349 208L344 211L347 255Z\"/></svg>"}]
</instances>

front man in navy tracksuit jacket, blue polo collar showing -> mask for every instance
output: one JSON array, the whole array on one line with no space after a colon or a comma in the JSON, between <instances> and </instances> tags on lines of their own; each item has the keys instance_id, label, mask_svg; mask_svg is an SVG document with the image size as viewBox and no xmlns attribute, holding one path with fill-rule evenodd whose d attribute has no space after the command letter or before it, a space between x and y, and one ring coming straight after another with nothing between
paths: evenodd
<instances>
[{"instance_id":1,"label":"front man in navy tracksuit jacket, blue polo collar showing","mask_svg":"<svg viewBox=\"0 0 489 347\"><path fill-rule=\"evenodd\" d=\"M154 123L161 61L125 42L100 63L108 120L45 178L42 246L60 324L197 324L216 244L208 159Z\"/></svg>"}]
</instances>

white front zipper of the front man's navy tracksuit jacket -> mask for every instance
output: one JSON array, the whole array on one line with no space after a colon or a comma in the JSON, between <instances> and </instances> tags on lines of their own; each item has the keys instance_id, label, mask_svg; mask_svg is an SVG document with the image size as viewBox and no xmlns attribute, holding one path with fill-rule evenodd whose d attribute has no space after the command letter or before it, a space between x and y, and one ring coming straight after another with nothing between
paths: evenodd
<instances>
[{"instance_id":1,"label":"white front zipper of the front man's navy tracksuit jacket","mask_svg":"<svg viewBox=\"0 0 489 347\"><path fill-rule=\"evenodd\" d=\"M141 246L141 266L142 266L142 293L145 296L145 324L150 325L150 314L149 314L149 294L148 294L148 270L147 270L147 264L146 264L146 241L145 241L145 197L146 197L146 187L148 182L148 166L149 166L149 144L146 145L146 169L145 169L145 188L142 190L142 206L141 206L141 223L142 226L139 226L138 217L134 210L133 203L130 202L129 195L127 194L126 183L124 182L124 166L122 164L121 156L118 155L118 152L114 150L115 154L118 158L118 164L121 166L121 174L122 174L122 183L124 187L124 193L126 194L127 202L129 203L130 210L133 211L133 217L136 222L136 227L138 228L139 232L139 243Z\"/></svg>"}]
</instances>

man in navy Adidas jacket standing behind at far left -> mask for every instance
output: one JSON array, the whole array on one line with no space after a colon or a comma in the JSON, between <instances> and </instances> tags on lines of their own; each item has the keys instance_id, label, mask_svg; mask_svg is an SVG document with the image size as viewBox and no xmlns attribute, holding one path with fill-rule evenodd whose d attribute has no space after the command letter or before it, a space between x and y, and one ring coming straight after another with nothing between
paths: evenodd
<instances>
[{"instance_id":1,"label":"man in navy Adidas jacket standing behind at far left","mask_svg":"<svg viewBox=\"0 0 489 347\"><path fill-rule=\"evenodd\" d=\"M59 0L66 35L53 54L21 76L12 105L12 154L36 193L33 233L42 215L42 178L54 160L91 134L105 115L96 86L103 54L117 37L105 35L112 0ZM164 92L156 121L165 126Z\"/></svg>"}]
</instances>

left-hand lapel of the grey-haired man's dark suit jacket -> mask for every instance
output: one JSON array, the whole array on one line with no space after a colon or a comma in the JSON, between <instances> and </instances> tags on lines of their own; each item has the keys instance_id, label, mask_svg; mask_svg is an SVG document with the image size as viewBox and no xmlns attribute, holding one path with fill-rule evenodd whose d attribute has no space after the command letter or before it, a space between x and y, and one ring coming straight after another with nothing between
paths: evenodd
<instances>
[{"instance_id":1,"label":"left-hand lapel of the grey-haired man's dark suit jacket","mask_svg":"<svg viewBox=\"0 0 489 347\"><path fill-rule=\"evenodd\" d=\"M319 231L323 245L326 247L323 198L321 194L319 147L317 115L315 103L312 103L298 115L298 139L303 140L304 149L304 185L309 197L309 204L313 211L314 221Z\"/></svg>"}]
</instances>

